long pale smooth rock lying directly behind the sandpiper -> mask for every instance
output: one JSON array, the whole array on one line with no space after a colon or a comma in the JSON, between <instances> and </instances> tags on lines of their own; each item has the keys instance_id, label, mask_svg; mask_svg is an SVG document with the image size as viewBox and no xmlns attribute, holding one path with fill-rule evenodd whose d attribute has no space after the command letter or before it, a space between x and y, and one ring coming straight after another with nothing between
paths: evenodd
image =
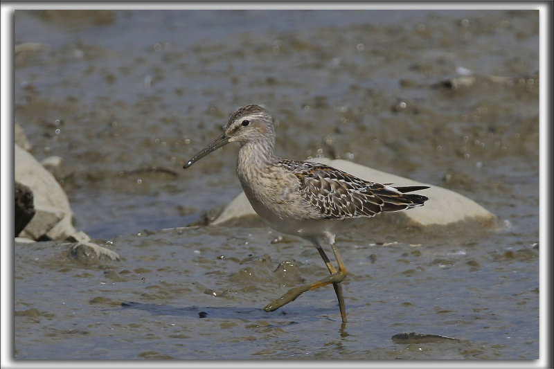
<instances>
[{"instance_id":1,"label":"long pale smooth rock lying directly behind the sandpiper","mask_svg":"<svg viewBox=\"0 0 554 369\"><path fill-rule=\"evenodd\" d=\"M391 216L395 214L405 215L409 222L414 225L444 226L465 220L472 220L485 226L490 226L490 224L493 224L497 219L494 214L490 213L475 201L445 188L431 186L427 183L420 183L412 179L381 172L380 170L368 168L364 165L352 163L351 161L330 160L326 158L312 159L312 161L331 165L334 168L368 181L392 183L393 186L429 186L430 188L427 190L418 191L421 195L429 197L429 201L425 202L425 206L390 213ZM226 206L221 215L217 217L212 224L222 224L229 222L231 219L247 216L257 216L257 214L250 205L246 195L244 195L244 192L242 192Z\"/></svg>"}]
</instances>

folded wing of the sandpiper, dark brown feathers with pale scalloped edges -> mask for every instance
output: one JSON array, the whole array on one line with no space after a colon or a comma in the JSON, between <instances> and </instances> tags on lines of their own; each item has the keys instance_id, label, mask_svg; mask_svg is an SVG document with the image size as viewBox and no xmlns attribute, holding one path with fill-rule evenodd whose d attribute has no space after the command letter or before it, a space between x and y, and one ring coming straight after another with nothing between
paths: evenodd
<instances>
[{"instance_id":1,"label":"folded wing of the sandpiper, dark brown feathers with pale scalloped edges","mask_svg":"<svg viewBox=\"0 0 554 369\"><path fill-rule=\"evenodd\" d=\"M405 194L426 186L393 188L317 163L285 160L281 165L296 175L303 197L327 218L373 217L382 211L403 210L427 201L423 195Z\"/></svg>"}]
</instances>

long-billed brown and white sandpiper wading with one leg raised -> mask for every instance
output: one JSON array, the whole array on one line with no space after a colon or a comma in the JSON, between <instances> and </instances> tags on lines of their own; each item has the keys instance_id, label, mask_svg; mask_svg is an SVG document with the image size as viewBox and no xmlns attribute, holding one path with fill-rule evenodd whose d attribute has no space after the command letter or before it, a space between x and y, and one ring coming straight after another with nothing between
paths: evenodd
<instances>
[{"instance_id":1,"label":"long-billed brown and white sandpiper wading with one leg raised","mask_svg":"<svg viewBox=\"0 0 554 369\"><path fill-rule=\"evenodd\" d=\"M309 240L323 258L330 275L307 285L289 289L264 309L272 312L310 289L332 283L343 322L346 309L340 283L346 267L334 244L341 219L373 217L386 211L422 206L427 197L406 194L427 186L393 187L359 179L328 165L294 161L274 155L273 118L258 105L235 111L221 136L193 156L183 168L230 142L240 143L238 178L256 213L277 231ZM329 244L337 259L330 262L322 244Z\"/></svg>"}]
</instances>

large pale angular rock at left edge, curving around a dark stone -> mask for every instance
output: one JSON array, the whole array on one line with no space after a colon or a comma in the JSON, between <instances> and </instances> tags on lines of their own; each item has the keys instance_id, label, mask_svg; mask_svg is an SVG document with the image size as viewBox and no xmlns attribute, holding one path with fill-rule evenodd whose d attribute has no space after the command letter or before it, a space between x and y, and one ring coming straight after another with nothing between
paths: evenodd
<instances>
[{"instance_id":1,"label":"large pale angular rock at left edge, curving around a dark stone","mask_svg":"<svg viewBox=\"0 0 554 369\"><path fill-rule=\"evenodd\" d=\"M32 240L65 240L75 233L69 200L50 172L19 145L15 145L15 181L33 192L35 216L19 234Z\"/></svg>"}]
</instances>

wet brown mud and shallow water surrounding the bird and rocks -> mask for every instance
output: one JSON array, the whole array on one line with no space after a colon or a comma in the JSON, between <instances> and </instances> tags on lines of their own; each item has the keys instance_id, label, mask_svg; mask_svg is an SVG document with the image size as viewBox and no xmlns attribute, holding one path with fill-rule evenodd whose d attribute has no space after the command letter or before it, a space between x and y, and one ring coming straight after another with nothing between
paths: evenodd
<instances>
[{"instance_id":1,"label":"wet brown mud and shallow water surrounding the bird and rocks","mask_svg":"<svg viewBox=\"0 0 554 369\"><path fill-rule=\"evenodd\" d=\"M122 260L16 244L15 357L536 359L538 29L505 10L16 12L16 44L37 44L15 55L15 117L64 159L76 227ZM182 228L240 192L238 147L181 166L251 102L277 154L451 188L504 226L370 219L337 237L346 325L330 288L266 313L325 275L313 246ZM409 332L455 340L393 339Z\"/></svg>"}]
</instances>

